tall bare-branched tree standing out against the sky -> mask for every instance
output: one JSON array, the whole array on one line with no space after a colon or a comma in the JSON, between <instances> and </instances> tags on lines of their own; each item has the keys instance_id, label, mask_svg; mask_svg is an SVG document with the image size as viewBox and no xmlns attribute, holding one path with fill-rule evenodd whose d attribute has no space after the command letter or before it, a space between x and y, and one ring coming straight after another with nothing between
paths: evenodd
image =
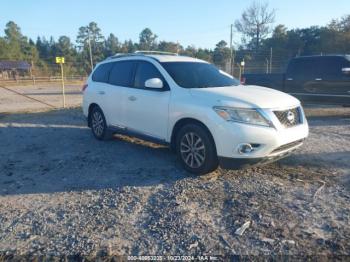
<instances>
[{"instance_id":1,"label":"tall bare-branched tree standing out against the sky","mask_svg":"<svg viewBox=\"0 0 350 262\"><path fill-rule=\"evenodd\" d=\"M252 45L259 50L261 41L271 32L275 21L275 10L269 10L268 3L253 2L235 22L238 32L243 34L243 43ZM247 43L247 39L249 42Z\"/></svg>"}]
</instances>

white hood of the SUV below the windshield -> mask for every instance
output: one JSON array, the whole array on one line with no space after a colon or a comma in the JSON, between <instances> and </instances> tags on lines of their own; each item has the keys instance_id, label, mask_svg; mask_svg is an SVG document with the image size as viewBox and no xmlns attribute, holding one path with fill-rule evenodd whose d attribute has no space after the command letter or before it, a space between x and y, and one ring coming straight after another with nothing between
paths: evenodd
<instances>
[{"instance_id":1,"label":"white hood of the SUV below the windshield","mask_svg":"<svg viewBox=\"0 0 350 262\"><path fill-rule=\"evenodd\" d=\"M261 86L192 88L190 92L193 97L205 99L213 106L274 109L300 105L291 95Z\"/></svg>"}]
</instances>

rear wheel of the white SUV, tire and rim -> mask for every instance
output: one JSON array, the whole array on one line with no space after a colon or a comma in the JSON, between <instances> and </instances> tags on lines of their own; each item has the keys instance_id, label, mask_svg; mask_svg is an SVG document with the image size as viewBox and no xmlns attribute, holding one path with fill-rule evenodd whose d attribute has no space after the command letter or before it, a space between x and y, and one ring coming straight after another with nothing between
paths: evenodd
<instances>
[{"instance_id":1,"label":"rear wheel of the white SUV, tire and rim","mask_svg":"<svg viewBox=\"0 0 350 262\"><path fill-rule=\"evenodd\" d=\"M106 118L98 106L92 108L89 114L89 120L91 125L91 131L94 137L98 140L109 140L112 137L111 132L108 130Z\"/></svg>"}]
</instances>

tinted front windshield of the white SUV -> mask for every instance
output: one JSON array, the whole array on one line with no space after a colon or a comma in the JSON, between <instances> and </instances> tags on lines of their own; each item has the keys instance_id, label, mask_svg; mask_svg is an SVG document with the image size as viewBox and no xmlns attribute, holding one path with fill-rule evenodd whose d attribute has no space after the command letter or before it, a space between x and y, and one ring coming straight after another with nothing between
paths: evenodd
<instances>
[{"instance_id":1,"label":"tinted front windshield of the white SUV","mask_svg":"<svg viewBox=\"0 0 350 262\"><path fill-rule=\"evenodd\" d=\"M237 86L239 81L215 66L202 62L161 63L174 81L184 88Z\"/></svg>"}]
</instances>

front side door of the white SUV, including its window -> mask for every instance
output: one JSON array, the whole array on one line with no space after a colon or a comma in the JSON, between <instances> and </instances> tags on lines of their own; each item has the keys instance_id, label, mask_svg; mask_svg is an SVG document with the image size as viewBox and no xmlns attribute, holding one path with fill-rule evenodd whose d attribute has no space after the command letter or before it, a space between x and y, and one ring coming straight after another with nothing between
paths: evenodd
<instances>
[{"instance_id":1,"label":"front side door of the white SUV, including its window","mask_svg":"<svg viewBox=\"0 0 350 262\"><path fill-rule=\"evenodd\" d=\"M151 89L145 82L160 78L163 89ZM136 133L165 140L168 131L170 89L155 65L138 61L134 87L127 90L123 105L123 124Z\"/></svg>"}]
</instances>

